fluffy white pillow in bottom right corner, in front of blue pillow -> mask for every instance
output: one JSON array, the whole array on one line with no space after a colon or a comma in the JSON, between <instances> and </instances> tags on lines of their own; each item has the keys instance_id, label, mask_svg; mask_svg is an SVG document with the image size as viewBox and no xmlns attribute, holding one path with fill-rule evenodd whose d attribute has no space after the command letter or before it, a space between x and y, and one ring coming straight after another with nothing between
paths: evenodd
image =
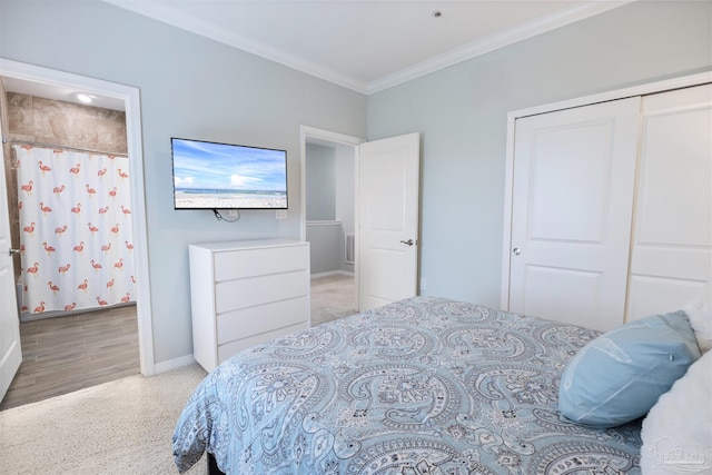
<instances>
[{"instance_id":1,"label":"fluffy white pillow in bottom right corner, in front of blue pillow","mask_svg":"<svg viewBox=\"0 0 712 475\"><path fill-rule=\"evenodd\" d=\"M712 468L712 352L660 396L643 420L644 475L710 473Z\"/></svg>"}]
</instances>

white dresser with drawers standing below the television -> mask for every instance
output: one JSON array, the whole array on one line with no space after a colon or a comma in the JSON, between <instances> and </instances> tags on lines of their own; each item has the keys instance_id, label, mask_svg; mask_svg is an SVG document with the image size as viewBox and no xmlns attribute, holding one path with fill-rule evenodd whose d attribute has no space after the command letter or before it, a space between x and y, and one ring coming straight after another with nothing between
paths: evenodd
<instances>
[{"instance_id":1,"label":"white dresser with drawers standing below the television","mask_svg":"<svg viewBox=\"0 0 712 475\"><path fill-rule=\"evenodd\" d=\"M192 352L206 370L309 326L309 243L207 243L188 251Z\"/></svg>"}]
</instances>

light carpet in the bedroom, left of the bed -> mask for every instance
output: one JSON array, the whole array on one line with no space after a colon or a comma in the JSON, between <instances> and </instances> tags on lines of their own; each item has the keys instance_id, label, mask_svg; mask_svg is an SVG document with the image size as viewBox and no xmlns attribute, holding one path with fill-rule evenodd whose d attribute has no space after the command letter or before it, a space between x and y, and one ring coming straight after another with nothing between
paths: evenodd
<instances>
[{"instance_id":1,"label":"light carpet in the bedroom, left of the bed","mask_svg":"<svg viewBox=\"0 0 712 475\"><path fill-rule=\"evenodd\" d=\"M206 372L130 376L0 412L3 474L177 474L171 436ZM205 474L205 457L188 474Z\"/></svg>"}]
</instances>

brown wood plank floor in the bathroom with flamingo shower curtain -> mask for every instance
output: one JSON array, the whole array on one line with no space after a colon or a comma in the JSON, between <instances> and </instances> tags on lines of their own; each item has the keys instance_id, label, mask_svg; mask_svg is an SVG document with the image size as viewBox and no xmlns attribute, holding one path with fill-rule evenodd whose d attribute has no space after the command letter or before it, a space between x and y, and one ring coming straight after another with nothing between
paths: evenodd
<instances>
[{"instance_id":1,"label":"brown wood plank floor in the bathroom with flamingo shower curtain","mask_svg":"<svg viewBox=\"0 0 712 475\"><path fill-rule=\"evenodd\" d=\"M135 305L23 321L20 340L0 410L140 373Z\"/></svg>"}]
</instances>

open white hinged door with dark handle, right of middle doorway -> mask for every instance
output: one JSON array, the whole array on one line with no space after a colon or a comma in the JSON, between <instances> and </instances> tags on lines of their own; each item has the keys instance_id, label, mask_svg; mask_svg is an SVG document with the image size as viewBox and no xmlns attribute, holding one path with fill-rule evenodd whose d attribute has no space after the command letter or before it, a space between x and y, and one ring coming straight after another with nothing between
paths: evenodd
<instances>
[{"instance_id":1,"label":"open white hinged door with dark handle, right of middle doorway","mask_svg":"<svg viewBox=\"0 0 712 475\"><path fill-rule=\"evenodd\" d=\"M362 144L358 159L358 309L417 294L421 135Z\"/></svg>"}]
</instances>

